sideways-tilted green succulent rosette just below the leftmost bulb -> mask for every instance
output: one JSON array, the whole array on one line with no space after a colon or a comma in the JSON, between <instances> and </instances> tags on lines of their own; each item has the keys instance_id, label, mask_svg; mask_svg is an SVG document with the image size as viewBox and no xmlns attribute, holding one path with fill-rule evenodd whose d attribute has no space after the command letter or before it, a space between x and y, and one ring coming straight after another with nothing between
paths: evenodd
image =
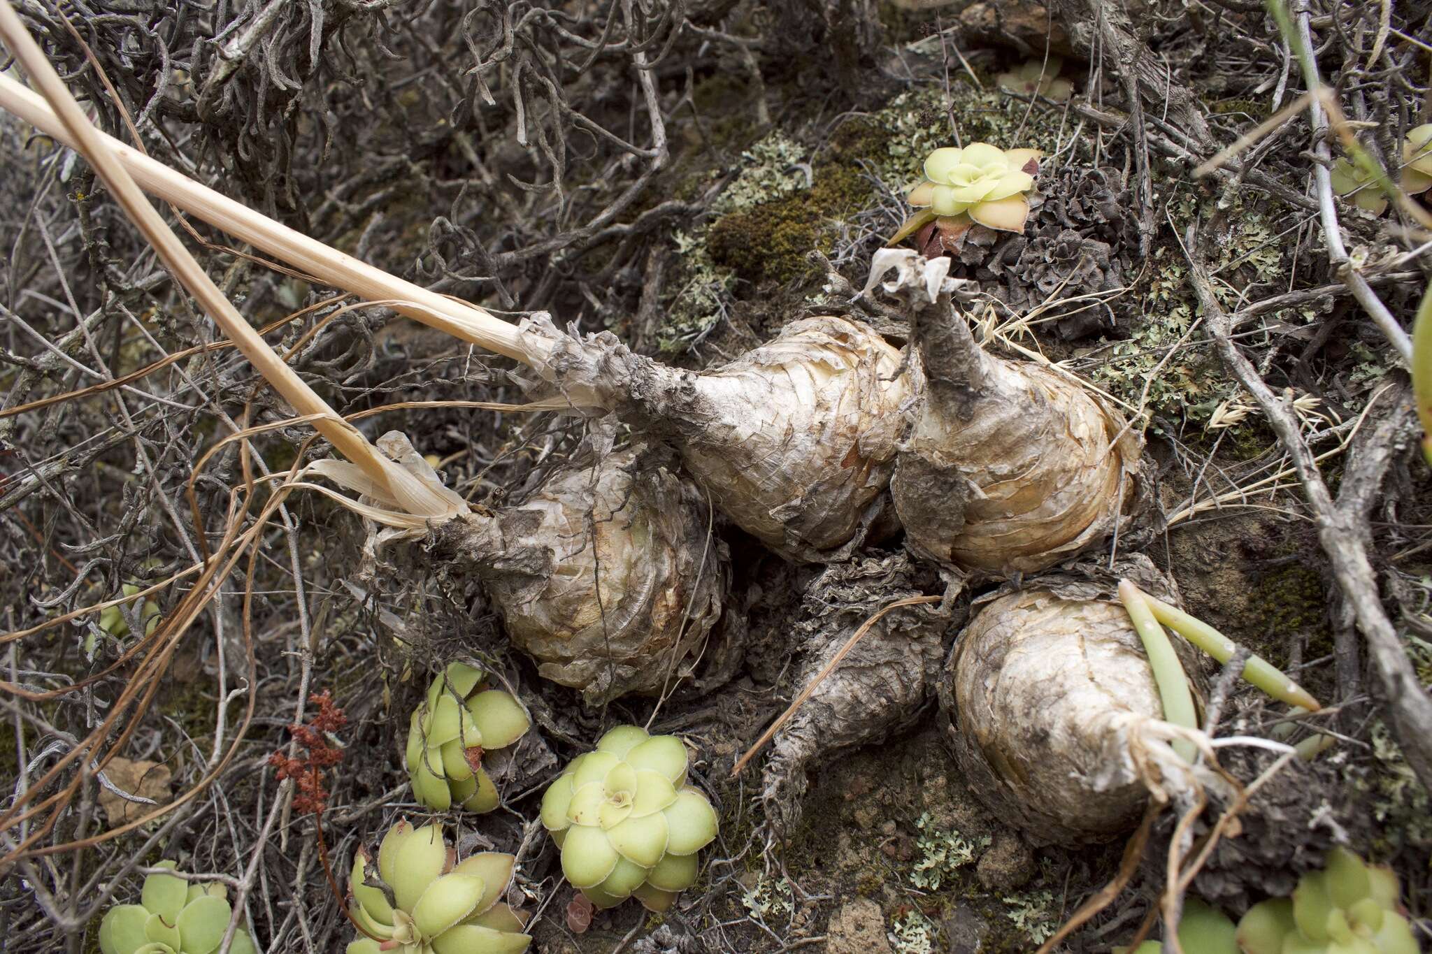
<instances>
[{"instance_id":1,"label":"sideways-tilted green succulent rosette just below the leftmost bulb","mask_svg":"<svg viewBox=\"0 0 1432 954\"><path fill-rule=\"evenodd\" d=\"M483 671L461 662L432 679L408 727L408 778L418 802L432 811L461 805L493 811L497 787L483 755L520 739L531 719L510 692L483 688Z\"/></svg>"}]
</instances>

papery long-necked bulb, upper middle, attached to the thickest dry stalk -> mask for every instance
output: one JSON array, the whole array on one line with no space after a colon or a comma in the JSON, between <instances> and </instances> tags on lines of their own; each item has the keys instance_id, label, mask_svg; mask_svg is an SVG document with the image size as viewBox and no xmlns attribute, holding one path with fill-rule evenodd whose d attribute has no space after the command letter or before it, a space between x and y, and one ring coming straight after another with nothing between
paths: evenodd
<instances>
[{"instance_id":1,"label":"papery long-necked bulb, upper middle, attached to the thickest dry stalk","mask_svg":"<svg viewBox=\"0 0 1432 954\"><path fill-rule=\"evenodd\" d=\"M554 340L544 376L610 395L617 418L666 438L717 508L785 556L858 545L889 482L909 395L901 353L868 326L809 318L709 372L633 355L603 333Z\"/></svg>"}]
</instances>

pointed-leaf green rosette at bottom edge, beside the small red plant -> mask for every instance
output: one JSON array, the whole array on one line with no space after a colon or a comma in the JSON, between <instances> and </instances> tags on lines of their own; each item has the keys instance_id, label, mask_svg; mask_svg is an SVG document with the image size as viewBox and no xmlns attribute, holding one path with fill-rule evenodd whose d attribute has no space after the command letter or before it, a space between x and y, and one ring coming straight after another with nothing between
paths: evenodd
<instances>
[{"instance_id":1,"label":"pointed-leaf green rosette at bottom edge, beside the small red plant","mask_svg":"<svg viewBox=\"0 0 1432 954\"><path fill-rule=\"evenodd\" d=\"M457 861L438 825L400 821L377 867L365 848L348 875L348 911L362 937L347 954L520 954L524 913L504 904L517 858L481 851Z\"/></svg>"}]
</instances>

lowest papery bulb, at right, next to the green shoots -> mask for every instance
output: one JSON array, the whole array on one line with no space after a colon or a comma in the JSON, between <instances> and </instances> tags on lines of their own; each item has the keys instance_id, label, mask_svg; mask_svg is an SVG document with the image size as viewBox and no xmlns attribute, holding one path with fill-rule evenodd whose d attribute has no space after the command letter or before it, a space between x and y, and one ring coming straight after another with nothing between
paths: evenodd
<instances>
[{"instance_id":1,"label":"lowest papery bulb, at right, next to the green shoots","mask_svg":"<svg viewBox=\"0 0 1432 954\"><path fill-rule=\"evenodd\" d=\"M1127 771L1128 737L1163 717L1128 612L1075 592L1038 586L985 604L939 687L971 790L1035 844L1088 844L1128 830L1148 801Z\"/></svg>"}]
</instances>

